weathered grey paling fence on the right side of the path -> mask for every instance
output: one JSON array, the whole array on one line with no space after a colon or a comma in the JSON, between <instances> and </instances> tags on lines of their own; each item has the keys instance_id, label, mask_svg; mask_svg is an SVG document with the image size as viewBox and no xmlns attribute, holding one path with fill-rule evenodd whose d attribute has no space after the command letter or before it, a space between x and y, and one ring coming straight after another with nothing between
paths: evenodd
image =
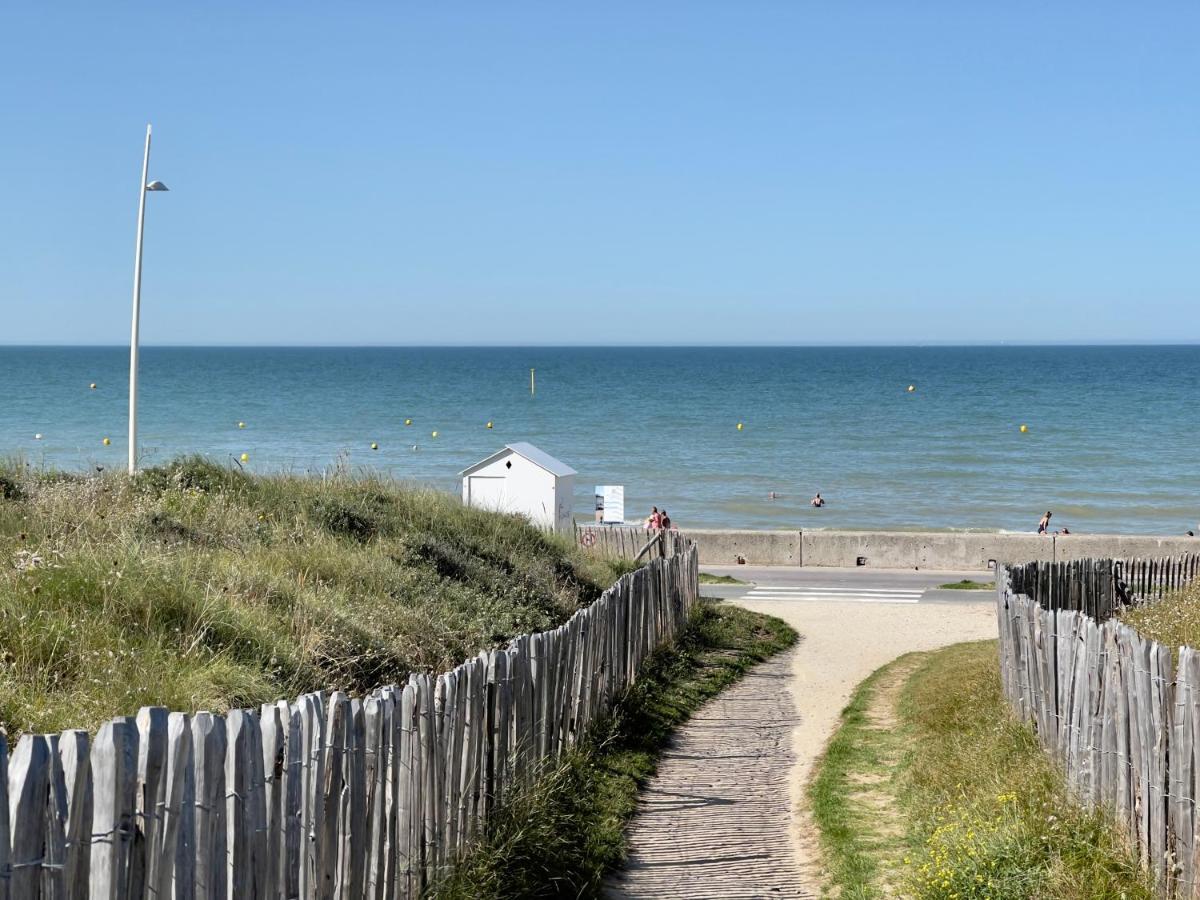
<instances>
[{"instance_id":1,"label":"weathered grey paling fence on the right side of the path","mask_svg":"<svg viewBox=\"0 0 1200 900\"><path fill-rule=\"evenodd\" d=\"M1112 618L1200 558L1028 563L997 574L1004 694L1085 804L1108 809L1163 896L1200 896L1200 653Z\"/></svg>"}]
</instances>

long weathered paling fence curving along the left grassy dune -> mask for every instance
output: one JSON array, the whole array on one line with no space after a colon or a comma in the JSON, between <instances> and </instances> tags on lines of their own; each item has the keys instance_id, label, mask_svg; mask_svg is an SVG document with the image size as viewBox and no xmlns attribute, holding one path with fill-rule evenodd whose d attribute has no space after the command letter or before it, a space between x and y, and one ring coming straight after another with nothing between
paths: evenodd
<instances>
[{"instance_id":1,"label":"long weathered paling fence curving along the left grassy dune","mask_svg":"<svg viewBox=\"0 0 1200 900\"><path fill-rule=\"evenodd\" d=\"M0 738L0 900L420 895L679 634L697 553L661 550L559 628L362 698Z\"/></svg>"}]
</instances>

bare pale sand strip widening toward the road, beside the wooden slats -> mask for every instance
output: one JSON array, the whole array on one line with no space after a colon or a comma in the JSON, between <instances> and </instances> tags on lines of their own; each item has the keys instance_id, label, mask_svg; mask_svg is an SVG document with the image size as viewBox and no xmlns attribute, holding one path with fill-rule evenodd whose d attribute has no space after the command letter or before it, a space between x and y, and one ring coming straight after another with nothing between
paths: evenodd
<instances>
[{"instance_id":1,"label":"bare pale sand strip widening toward the road, beside the wooden slats","mask_svg":"<svg viewBox=\"0 0 1200 900\"><path fill-rule=\"evenodd\" d=\"M804 638L792 655L790 686L799 722L792 731L788 818L804 887L820 893L817 842L804 787L850 695L871 672L905 653L995 637L995 605L990 595L979 602L954 604L739 605L778 616Z\"/></svg>"}]
</instances>

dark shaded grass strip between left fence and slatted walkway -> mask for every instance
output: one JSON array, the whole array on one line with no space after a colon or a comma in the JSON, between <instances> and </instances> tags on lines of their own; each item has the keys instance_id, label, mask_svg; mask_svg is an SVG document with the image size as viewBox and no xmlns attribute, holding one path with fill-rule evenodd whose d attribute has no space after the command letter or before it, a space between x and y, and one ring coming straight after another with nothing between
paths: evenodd
<instances>
[{"instance_id":1,"label":"dark shaded grass strip between left fence and slatted walkway","mask_svg":"<svg viewBox=\"0 0 1200 900\"><path fill-rule=\"evenodd\" d=\"M704 701L796 641L779 619L703 602L674 647L529 792L498 811L487 838L431 892L438 900L599 895L625 853L625 823L671 732Z\"/></svg>"}]
</instances>

